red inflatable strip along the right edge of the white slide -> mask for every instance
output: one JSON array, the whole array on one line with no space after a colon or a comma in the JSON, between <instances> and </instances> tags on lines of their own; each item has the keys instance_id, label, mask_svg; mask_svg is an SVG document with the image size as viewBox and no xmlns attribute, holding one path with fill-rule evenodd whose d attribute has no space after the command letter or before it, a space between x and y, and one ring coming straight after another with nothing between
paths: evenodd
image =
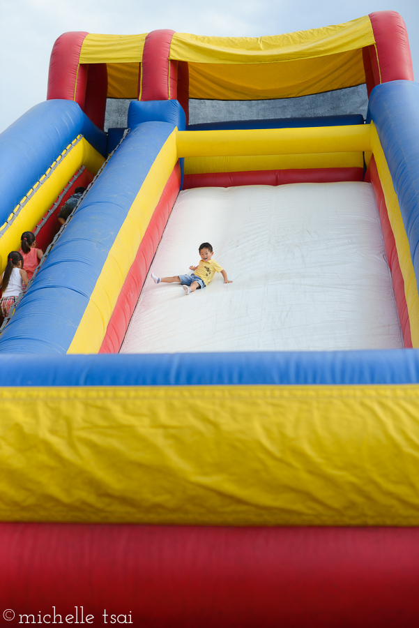
<instances>
[{"instance_id":1,"label":"red inflatable strip along the right edge of the white slide","mask_svg":"<svg viewBox=\"0 0 419 628\"><path fill-rule=\"evenodd\" d=\"M381 187L381 181L380 181L379 173L376 168L374 156L372 157L370 161L367 174L368 174L368 178L371 180L376 204L377 204L377 207L379 208L381 229L383 231L384 247L386 249L388 266L390 267L391 277L393 280L393 289L395 292L397 312L399 313L400 326L402 327L404 347L406 349L410 349L412 347L412 338L411 338L409 311L407 309L406 296L404 294L404 279L402 276L402 271L400 269L399 256L397 255L395 237L393 235L393 230L390 225L390 220L388 219L386 200L384 199L383 188Z\"/></svg>"}]
</instances>

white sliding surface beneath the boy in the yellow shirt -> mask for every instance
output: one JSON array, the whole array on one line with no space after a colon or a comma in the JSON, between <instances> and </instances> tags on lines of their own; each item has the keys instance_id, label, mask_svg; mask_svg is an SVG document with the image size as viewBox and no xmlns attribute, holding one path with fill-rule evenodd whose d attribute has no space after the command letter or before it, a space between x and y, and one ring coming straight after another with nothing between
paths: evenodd
<instances>
[{"instance_id":1,"label":"white sliding surface beneath the boy in the yellow shirt","mask_svg":"<svg viewBox=\"0 0 419 628\"><path fill-rule=\"evenodd\" d=\"M149 274L121 353L403 346L370 184L184 190L151 271L190 274L204 241L234 283L186 296Z\"/></svg>"}]
</instances>

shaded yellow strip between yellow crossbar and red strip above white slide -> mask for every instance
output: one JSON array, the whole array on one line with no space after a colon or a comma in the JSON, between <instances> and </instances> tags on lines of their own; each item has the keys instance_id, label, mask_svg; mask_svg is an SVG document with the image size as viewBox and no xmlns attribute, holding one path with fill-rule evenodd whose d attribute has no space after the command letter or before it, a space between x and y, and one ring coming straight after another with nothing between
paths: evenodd
<instances>
[{"instance_id":1,"label":"shaded yellow strip between yellow crossbar and red strip above white slide","mask_svg":"<svg viewBox=\"0 0 419 628\"><path fill-rule=\"evenodd\" d=\"M362 168L363 165L363 154L357 152L254 155L248 157L187 157L185 158L185 174L289 170L291 168Z\"/></svg>"}]
</instances>

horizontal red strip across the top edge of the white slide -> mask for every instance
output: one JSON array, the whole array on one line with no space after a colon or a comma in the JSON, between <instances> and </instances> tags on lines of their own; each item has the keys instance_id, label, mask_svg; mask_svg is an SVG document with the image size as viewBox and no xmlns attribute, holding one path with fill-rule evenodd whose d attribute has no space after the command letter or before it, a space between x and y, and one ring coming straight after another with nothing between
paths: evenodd
<instances>
[{"instance_id":1,"label":"horizontal red strip across the top edge of the white slide","mask_svg":"<svg viewBox=\"0 0 419 628\"><path fill-rule=\"evenodd\" d=\"M362 181L363 168L301 168L298 170L250 170L185 174L183 189L231 186L282 186L291 183Z\"/></svg>"}]
</instances>

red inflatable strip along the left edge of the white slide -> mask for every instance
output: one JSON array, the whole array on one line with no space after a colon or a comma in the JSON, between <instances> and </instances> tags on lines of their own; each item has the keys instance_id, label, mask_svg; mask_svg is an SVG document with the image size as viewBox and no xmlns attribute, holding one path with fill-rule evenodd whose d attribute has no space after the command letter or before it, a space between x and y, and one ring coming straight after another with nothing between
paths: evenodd
<instances>
[{"instance_id":1,"label":"red inflatable strip along the left edge of the white slide","mask_svg":"<svg viewBox=\"0 0 419 628\"><path fill-rule=\"evenodd\" d=\"M118 353L121 348L125 331L137 305L139 293L142 290L148 269L162 233L165 230L167 218L169 218L169 214L172 211L180 187L181 167L179 163L176 163L146 229L135 260L119 294L118 301L116 301L116 306L109 320L99 353Z\"/></svg>"}]
</instances>

